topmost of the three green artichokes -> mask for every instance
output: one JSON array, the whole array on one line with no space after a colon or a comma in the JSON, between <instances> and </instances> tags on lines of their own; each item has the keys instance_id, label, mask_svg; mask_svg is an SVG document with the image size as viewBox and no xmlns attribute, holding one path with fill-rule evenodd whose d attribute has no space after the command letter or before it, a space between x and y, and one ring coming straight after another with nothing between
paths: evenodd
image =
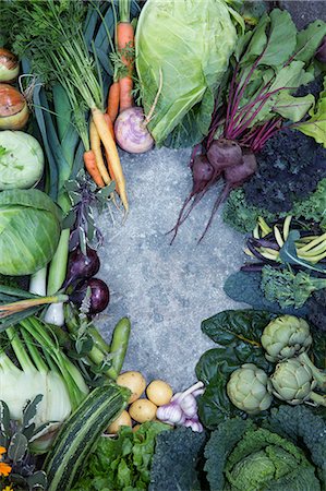
<instances>
[{"instance_id":1,"label":"topmost of the three green artichokes","mask_svg":"<svg viewBox=\"0 0 326 491\"><path fill-rule=\"evenodd\" d=\"M306 351L312 344L309 324L294 315L281 315L265 327L262 345L268 361L293 358Z\"/></svg>"}]
</instances>

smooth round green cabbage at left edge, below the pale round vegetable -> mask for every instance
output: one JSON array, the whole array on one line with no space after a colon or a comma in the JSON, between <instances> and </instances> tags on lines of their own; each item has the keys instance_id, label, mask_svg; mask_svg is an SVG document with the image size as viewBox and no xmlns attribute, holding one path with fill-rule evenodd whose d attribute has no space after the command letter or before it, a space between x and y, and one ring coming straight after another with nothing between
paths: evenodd
<instances>
[{"instance_id":1,"label":"smooth round green cabbage at left edge, below the pale round vegetable","mask_svg":"<svg viewBox=\"0 0 326 491\"><path fill-rule=\"evenodd\" d=\"M61 231L61 213L37 189L0 193L0 274L36 273L53 256Z\"/></svg>"}]
</instances>

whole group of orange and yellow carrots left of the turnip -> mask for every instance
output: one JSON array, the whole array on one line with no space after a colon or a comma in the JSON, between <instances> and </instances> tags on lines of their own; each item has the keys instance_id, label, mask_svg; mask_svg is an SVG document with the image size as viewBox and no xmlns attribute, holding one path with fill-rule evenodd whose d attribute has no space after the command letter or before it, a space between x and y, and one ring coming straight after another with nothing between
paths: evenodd
<instances>
[{"instance_id":1,"label":"whole group of orange and yellow carrots left of the turnip","mask_svg":"<svg viewBox=\"0 0 326 491\"><path fill-rule=\"evenodd\" d=\"M120 22L116 25L116 46L119 62L114 70L113 82L109 88L107 111L104 115L106 121L106 133L109 133L110 141L114 144L114 121L120 112L133 106L133 69L134 69L134 28L130 21L131 0L119 1ZM94 115L89 128L90 149L85 152L84 163L88 173L100 188L116 182L116 190L120 194L121 201L128 211L128 200L125 194L125 183L119 160L114 158L112 148L105 145L105 158L101 151L101 136L98 127L95 124ZM116 146L116 144L114 144ZM117 152L117 148L116 148ZM107 166L105 164L107 161Z\"/></svg>"}]
</instances>

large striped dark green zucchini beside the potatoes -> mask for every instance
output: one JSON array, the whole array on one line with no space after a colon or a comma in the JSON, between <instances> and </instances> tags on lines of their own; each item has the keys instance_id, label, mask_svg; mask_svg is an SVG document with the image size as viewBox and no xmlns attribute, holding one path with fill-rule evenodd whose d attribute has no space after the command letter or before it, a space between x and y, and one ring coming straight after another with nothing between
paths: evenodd
<instances>
[{"instance_id":1,"label":"large striped dark green zucchini beside the potatoes","mask_svg":"<svg viewBox=\"0 0 326 491\"><path fill-rule=\"evenodd\" d=\"M87 456L111 421L126 406L130 391L116 384L94 388L62 424L44 469L48 491L70 491Z\"/></svg>"}]
</instances>

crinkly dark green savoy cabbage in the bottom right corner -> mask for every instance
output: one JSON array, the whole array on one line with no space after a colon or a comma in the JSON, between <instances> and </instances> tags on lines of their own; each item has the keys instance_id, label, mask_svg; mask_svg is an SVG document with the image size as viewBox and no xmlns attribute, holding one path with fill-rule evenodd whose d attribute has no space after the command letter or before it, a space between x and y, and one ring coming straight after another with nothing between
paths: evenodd
<instances>
[{"instance_id":1,"label":"crinkly dark green savoy cabbage in the bottom right corner","mask_svg":"<svg viewBox=\"0 0 326 491\"><path fill-rule=\"evenodd\" d=\"M316 468L289 440L252 421L221 423L205 448L213 491L319 491Z\"/></svg>"}]
</instances>

